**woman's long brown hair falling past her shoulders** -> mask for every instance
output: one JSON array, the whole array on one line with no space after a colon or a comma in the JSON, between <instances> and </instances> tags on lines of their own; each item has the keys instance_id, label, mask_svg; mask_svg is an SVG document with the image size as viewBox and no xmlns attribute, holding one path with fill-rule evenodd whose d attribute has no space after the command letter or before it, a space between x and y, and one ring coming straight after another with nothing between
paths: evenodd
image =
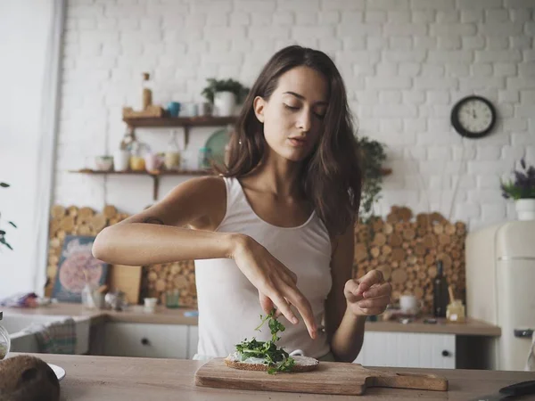
<instances>
[{"instance_id":1,"label":"woman's long brown hair falling past her shoulders","mask_svg":"<svg viewBox=\"0 0 535 401\"><path fill-rule=\"evenodd\" d=\"M245 176L262 161L268 144L254 113L253 101L256 96L268 101L276 90L278 78L300 66L317 70L329 86L323 133L314 151L302 162L300 190L329 233L335 235L343 233L358 215L362 173L342 76L325 53L291 45L271 57L243 102L230 138L228 165L221 173Z\"/></svg>"}]
</instances>

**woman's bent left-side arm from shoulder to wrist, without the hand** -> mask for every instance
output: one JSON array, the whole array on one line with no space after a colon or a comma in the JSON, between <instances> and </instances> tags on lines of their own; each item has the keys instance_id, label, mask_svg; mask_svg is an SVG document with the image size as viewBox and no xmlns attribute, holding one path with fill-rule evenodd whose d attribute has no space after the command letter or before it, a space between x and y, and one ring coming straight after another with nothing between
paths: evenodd
<instances>
[{"instance_id":1,"label":"woman's bent left-side arm from shoulder to wrist, without the hand","mask_svg":"<svg viewBox=\"0 0 535 401\"><path fill-rule=\"evenodd\" d=\"M186 181L151 208L104 228L93 245L95 258L130 266L231 258L238 241L236 234L185 228L215 227L216 220L222 220L226 194L218 180L203 177Z\"/></svg>"}]
</instances>

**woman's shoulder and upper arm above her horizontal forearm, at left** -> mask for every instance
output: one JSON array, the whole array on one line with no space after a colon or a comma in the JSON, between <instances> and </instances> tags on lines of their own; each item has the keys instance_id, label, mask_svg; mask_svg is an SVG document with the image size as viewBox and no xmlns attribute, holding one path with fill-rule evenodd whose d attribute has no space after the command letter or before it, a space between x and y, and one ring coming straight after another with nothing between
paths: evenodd
<instances>
[{"instance_id":1,"label":"woman's shoulder and upper arm above her horizontal forearm, at left","mask_svg":"<svg viewBox=\"0 0 535 401\"><path fill-rule=\"evenodd\" d=\"M226 185L220 176L201 176L178 184L159 202L124 220L202 230L215 229L226 212Z\"/></svg>"}]
</instances>

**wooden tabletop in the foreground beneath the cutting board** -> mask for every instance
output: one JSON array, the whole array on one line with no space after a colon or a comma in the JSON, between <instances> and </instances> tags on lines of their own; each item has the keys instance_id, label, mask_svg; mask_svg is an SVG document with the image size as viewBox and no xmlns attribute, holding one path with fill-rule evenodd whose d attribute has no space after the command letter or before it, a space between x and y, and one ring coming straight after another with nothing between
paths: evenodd
<instances>
[{"instance_id":1,"label":"wooden tabletop in the foreground beneath the cutting board","mask_svg":"<svg viewBox=\"0 0 535 401\"><path fill-rule=\"evenodd\" d=\"M13 354L13 356L16 354ZM331 396L196 387L194 373L201 361L182 359L125 358L111 356L62 356L38 354L66 371L61 381L62 399L84 400L355 400L354 396ZM375 368L384 370L384 368ZM390 369L395 372L423 372L449 380L449 391L409 389L367 389L358 400L424 401L463 400L493 393L507 385L533 380L533 372L475 370Z\"/></svg>"}]
</instances>

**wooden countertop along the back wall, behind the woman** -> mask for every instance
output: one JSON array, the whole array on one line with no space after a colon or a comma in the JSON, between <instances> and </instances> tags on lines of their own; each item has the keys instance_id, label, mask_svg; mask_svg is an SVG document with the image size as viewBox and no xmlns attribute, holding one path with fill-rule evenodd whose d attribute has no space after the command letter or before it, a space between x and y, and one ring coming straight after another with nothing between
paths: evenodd
<instances>
[{"instance_id":1,"label":"wooden countertop along the back wall, behind the woman","mask_svg":"<svg viewBox=\"0 0 535 401\"><path fill-rule=\"evenodd\" d=\"M80 304L57 303L47 307L14 308L6 307L6 313L20 313L25 315L71 315L88 316L92 322L123 322L123 323L160 323L196 325L197 317L185 316L191 308L168 309L158 306L153 314L144 313L142 306L131 306L126 311L91 310ZM392 331L392 332L426 332L440 334L456 334L463 336L499 337L501 330L498 326L467 319L466 323L449 323L445 319L438 319L438 323L424 323L417 319L412 323L398 322L367 322L366 331Z\"/></svg>"}]
</instances>

